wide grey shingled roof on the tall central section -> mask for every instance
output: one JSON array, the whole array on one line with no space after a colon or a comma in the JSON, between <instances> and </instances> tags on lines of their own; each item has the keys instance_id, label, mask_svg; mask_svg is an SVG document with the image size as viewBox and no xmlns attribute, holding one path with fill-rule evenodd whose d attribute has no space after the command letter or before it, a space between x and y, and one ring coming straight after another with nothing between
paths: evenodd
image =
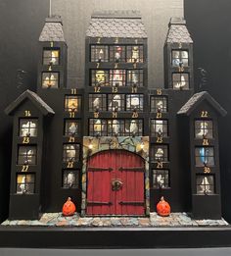
<instances>
[{"instance_id":1,"label":"wide grey shingled roof on the tall central section","mask_svg":"<svg viewBox=\"0 0 231 256\"><path fill-rule=\"evenodd\" d=\"M139 11L98 11L91 17L88 37L147 38Z\"/></svg>"}]
</instances>

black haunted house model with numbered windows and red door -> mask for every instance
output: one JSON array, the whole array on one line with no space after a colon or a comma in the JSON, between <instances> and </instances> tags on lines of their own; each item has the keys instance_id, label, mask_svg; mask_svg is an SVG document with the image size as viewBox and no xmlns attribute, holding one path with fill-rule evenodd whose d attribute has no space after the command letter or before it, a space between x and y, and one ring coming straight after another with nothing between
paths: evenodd
<instances>
[{"instance_id":1,"label":"black haunted house model with numbered windows and red door","mask_svg":"<svg viewBox=\"0 0 231 256\"><path fill-rule=\"evenodd\" d=\"M69 88L62 21L46 19L37 93L6 109L14 117L9 218L59 212L68 196L82 216L148 216L163 195L173 212L220 219L225 111L208 92L194 94L185 21L169 23L164 88L147 85L139 12L95 13L85 42L85 87Z\"/></svg>"}]
</instances>

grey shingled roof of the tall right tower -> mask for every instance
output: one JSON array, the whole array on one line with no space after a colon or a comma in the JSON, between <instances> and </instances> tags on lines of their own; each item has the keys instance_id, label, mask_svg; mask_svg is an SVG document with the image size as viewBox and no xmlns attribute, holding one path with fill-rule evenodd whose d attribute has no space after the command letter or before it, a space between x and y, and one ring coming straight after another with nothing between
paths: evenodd
<instances>
[{"instance_id":1,"label":"grey shingled roof of the tall right tower","mask_svg":"<svg viewBox=\"0 0 231 256\"><path fill-rule=\"evenodd\" d=\"M165 43L193 43L183 18L171 18Z\"/></svg>"}]
</instances>

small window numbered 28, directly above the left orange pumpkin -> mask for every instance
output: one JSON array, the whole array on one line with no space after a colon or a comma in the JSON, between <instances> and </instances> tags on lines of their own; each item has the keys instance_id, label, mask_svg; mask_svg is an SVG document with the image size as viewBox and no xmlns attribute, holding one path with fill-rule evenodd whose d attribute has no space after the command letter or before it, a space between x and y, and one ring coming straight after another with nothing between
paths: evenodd
<instances>
[{"instance_id":1,"label":"small window numbered 28, directly above the left orange pumpkin","mask_svg":"<svg viewBox=\"0 0 231 256\"><path fill-rule=\"evenodd\" d=\"M78 188L79 187L79 171L64 170L63 187L64 188Z\"/></svg>"}]
</instances>

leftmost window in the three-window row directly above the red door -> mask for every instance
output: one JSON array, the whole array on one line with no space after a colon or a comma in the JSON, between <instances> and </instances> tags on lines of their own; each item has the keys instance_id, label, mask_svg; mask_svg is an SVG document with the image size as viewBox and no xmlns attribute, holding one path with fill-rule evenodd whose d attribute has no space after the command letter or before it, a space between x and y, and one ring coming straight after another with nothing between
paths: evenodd
<instances>
[{"instance_id":1,"label":"leftmost window in the three-window row directly above the red door","mask_svg":"<svg viewBox=\"0 0 231 256\"><path fill-rule=\"evenodd\" d=\"M89 120L90 136L107 136L107 121L102 119Z\"/></svg>"}]
</instances>

